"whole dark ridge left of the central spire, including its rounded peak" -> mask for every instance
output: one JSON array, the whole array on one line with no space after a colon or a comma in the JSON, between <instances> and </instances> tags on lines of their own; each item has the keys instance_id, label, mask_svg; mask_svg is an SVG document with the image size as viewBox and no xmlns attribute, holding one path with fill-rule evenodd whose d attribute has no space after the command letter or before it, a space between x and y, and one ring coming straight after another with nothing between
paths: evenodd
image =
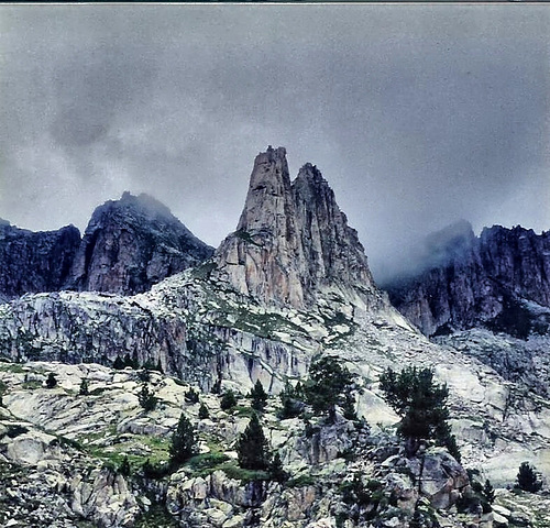
<instances>
[{"instance_id":1,"label":"whole dark ridge left of the central spire, including its rounded peak","mask_svg":"<svg viewBox=\"0 0 550 528\"><path fill-rule=\"evenodd\" d=\"M124 193L91 217L85 235L73 226L33 232L0 221L0 301L62 289L131 295L209 258L165 206Z\"/></svg>"}]
</instances>

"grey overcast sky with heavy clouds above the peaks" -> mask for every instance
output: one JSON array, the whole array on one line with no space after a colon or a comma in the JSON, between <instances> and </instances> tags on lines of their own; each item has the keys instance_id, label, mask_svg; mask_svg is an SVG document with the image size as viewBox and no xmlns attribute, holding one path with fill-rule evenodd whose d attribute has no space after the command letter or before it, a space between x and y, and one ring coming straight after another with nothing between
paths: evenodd
<instances>
[{"instance_id":1,"label":"grey overcast sky with heavy clouds above the peaks","mask_svg":"<svg viewBox=\"0 0 550 528\"><path fill-rule=\"evenodd\" d=\"M144 191L217 245L272 144L321 169L378 278L461 218L550 229L546 6L0 6L0 84L23 228Z\"/></svg>"}]
</instances>

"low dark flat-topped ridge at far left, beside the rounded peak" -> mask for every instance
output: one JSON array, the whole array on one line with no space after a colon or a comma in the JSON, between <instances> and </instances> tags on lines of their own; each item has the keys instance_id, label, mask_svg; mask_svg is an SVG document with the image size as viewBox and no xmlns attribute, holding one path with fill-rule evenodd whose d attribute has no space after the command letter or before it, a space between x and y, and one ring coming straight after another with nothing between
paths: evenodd
<instances>
[{"instance_id":1,"label":"low dark flat-topped ridge at far left, beside the rounded peak","mask_svg":"<svg viewBox=\"0 0 550 528\"><path fill-rule=\"evenodd\" d=\"M74 226L33 232L0 220L0 298L61 289L79 244Z\"/></svg>"}]
</instances>

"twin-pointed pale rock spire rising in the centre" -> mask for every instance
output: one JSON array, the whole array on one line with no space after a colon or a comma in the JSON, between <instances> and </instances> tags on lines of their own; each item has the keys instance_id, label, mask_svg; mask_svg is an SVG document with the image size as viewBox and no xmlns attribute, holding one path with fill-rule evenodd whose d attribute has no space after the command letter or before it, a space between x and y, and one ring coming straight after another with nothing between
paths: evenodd
<instances>
[{"instance_id":1,"label":"twin-pointed pale rock spire rising in the centre","mask_svg":"<svg viewBox=\"0 0 550 528\"><path fill-rule=\"evenodd\" d=\"M237 231L216 252L220 278L267 305L307 308L322 290L376 289L356 232L311 164L290 184L286 151L257 155Z\"/></svg>"}]
</instances>

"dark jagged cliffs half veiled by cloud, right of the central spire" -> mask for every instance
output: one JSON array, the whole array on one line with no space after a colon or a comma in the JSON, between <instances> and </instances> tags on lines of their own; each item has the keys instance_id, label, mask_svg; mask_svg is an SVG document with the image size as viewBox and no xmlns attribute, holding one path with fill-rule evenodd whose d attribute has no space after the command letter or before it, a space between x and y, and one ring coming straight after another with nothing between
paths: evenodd
<instances>
[{"instance_id":1,"label":"dark jagged cliffs half veiled by cloud, right of the central spire","mask_svg":"<svg viewBox=\"0 0 550 528\"><path fill-rule=\"evenodd\" d=\"M526 338L550 319L550 232L499 226L474 237L469 224L432 237L430 263L385 285L393 304L425 334L477 326Z\"/></svg>"}]
</instances>

